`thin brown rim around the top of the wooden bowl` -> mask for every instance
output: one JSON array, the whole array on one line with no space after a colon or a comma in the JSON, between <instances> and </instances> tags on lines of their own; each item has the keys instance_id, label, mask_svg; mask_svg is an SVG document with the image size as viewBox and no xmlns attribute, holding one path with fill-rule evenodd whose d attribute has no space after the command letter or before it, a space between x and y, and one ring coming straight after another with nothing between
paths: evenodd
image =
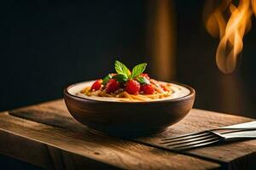
<instances>
[{"instance_id":1,"label":"thin brown rim around the top of the wooden bowl","mask_svg":"<svg viewBox=\"0 0 256 170\"><path fill-rule=\"evenodd\" d=\"M90 80L90 81L84 81L84 82L93 82L95 80ZM80 96L77 96L77 95L73 95L73 94L70 94L68 92L68 89L69 88L73 88L74 86L76 86L77 84L79 83L83 83L83 82L76 82L76 83L73 83L73 84L69 84L67 85L64 89L63 89L63 94L64 96L67 95L73 99L79 99L79 100L83 100L84 102L95 102L95 103L104 103L104 104L155 104L155 103L166 103L166 102L177 102L177 101L180 101L180 100L184 100L184 99L190 99L190 98L193 98L195 97L195 89L194 88L191 88L189 85L186 85L186 84L183 84L181 82L170 82L170 83L174 83L174 84L177 84L179 86L183 86L184 88L188 88L190 93L183 96L183 97L179 97L179 98L175 98L175 99L166 99L166 100L154 100L154 101L135 101L135 102L129 102L129 101L122 101L122 102L119 102L119 101L102 101L102 100L96 100L96 99L85 99L83 97L80 97Z\"/></svg>"}]
</instances>

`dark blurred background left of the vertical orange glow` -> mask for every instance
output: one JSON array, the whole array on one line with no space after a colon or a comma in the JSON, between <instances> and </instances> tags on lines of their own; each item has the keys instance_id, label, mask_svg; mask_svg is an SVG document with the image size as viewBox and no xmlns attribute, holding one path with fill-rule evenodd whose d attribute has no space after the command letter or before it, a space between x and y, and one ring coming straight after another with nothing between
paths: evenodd
<instances>
[{"instance_id":1,"label":"dark blurred background left of the vertical orange glow","mask_svg":"<svg viewBox=\"0 0 256 170\"><path fill-rule=\"evenodd\" d=\"M145 57L145 1L1 4L0 110L62 97L72 82L103 77L114 59Z\"/></svg>"}]
</instances>

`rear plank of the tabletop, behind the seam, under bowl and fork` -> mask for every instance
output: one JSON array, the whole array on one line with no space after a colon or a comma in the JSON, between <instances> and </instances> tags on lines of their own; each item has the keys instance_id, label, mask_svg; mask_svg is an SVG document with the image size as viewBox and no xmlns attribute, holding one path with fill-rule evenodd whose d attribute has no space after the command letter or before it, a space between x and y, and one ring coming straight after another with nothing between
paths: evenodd
<instances>
[{"instance_id":1,"label":"rear plank of the tabletop, behind the seam, under bowl and fork","mask_svg":"<svg viewBox=\"0 0 256 170\"><path fill-rule=\"evenodd\" d=\"M67 112L62 100L49 102L42 105L30 106L22 108L20 110L10 111L10 114L13 116L23 117L36 122L43 122L44 124L56 128L61 127L61 129L63 128L68 131L73 131L73 133L83 133L84 136L88 137L87 140L94 139L94 142L95 139L99 138L97 135L94 136L92 133L90 133L87 127L84 127L84 125L81 125L79 124L79 122L74 121L74 119ZM212 127L223 127L236 123L250 121L253 121L253 119L242 116L231 116L212 111L201 111L194 109L190 111L189 116L185 117L181 122L178 122L172 127L169 127L164 133L160 133L147 138L131 140L133 140L135 143L138 142L160 147L158 145L160 138L165 138L167 136L177 136L183 133L197 132ZM103 140L106 139L102 139L102 141ZM100 141L97 142L100 143ZM168 153L171 154L171 152ZM256 159L255 153L256 140L240 141L221 145L212 145L185 152L185 154L189 154L192 156L200 156L205 157L209 160L218 161L224 167L229 169L254 168L256 165L256 163L253 161Z\"/></svg>"}]
</instances>

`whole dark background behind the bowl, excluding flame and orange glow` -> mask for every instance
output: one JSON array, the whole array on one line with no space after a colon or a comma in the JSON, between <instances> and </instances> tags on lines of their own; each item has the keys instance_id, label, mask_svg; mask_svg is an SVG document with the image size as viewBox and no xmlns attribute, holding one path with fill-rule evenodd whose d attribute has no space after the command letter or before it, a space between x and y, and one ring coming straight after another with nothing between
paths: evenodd
<instances>
[{"instance_id":1,"label":"whole dark background behind the bowl, excluding flame and orange glow","mask_svg":"<svg viewBox=\"0 0 256 170\"><path fill-rule=\"evenodd\" d=\"M148 62L148 2L1 1L0 111L60 99L67 84L113 71L115 59L130 67ZM204 1L176 0L173 5L177 17L173 80L195 88L196 108L255 118L254 18L238 69L224 75L215 64L218 39L203 25Z\"/></svg>"}]
</instances>

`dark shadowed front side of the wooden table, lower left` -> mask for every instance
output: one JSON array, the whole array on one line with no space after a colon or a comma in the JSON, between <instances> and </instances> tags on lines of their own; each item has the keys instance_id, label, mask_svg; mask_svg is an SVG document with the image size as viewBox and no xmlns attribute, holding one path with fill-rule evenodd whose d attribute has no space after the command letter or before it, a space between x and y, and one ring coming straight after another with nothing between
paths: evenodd
<instances>
[{"instance_id":1,"label":"dark shadowed front side of the wooden table, lower left","mask_svg":"<svg viewBox=\"0 0 256 170\"><path fill-rule=\"evenodd\" d=\"M22 128L21 128L22 129ZM0 152L44 169L116 169L101 161L60 150L8 131L0 131Z\"/></svg>"}]
</instances>

